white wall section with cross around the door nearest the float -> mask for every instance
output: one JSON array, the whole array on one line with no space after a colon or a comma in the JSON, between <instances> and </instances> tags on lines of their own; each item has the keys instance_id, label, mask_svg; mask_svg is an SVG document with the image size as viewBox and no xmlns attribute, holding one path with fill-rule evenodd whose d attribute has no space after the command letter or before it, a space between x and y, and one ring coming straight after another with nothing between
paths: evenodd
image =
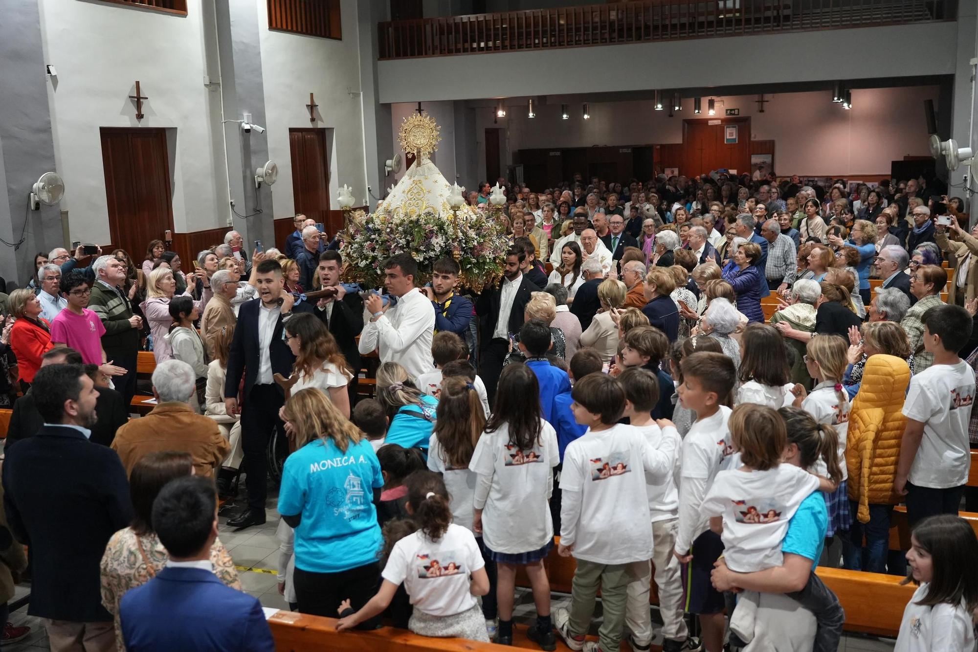
<instances>
[{"instance_id":1,"label":"white wall section with cross around the door nearest the float","mask_svg":"<svg viewBox=\"0 0 978 652\"><path fill-rule=\"evenodd\" d=\"M333 129L330 162L330 206L338 209L336 190L346 184L354 197L367 202L363 111L360 104L360 52L357 3L340 6L342 40L303 36L268 29L268 6L256 0L261 29L261 67L265 83L269 156L279 165L272 186L276 217L294 214L289 127ZM309 93L316 104L316 122L309 121ZM352 92L352 94L351 94ZM377 189L374 189L377 195Z\"/></svg>"}]
</instances>

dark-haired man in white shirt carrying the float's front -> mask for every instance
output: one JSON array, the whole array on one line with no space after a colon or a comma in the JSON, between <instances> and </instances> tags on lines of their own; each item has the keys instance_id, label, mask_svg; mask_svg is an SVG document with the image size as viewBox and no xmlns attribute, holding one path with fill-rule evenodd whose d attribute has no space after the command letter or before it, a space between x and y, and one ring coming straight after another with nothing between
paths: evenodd
<instances>
[{"instance_id":1,"label":"dark-haired man in white shirt carrying the float's front","mask_svg":"<svg viewBox=\"0 0 978 652\"><path fill-rule=\"evenodd\" d=\"M412 378L434 370L431 337L434 311L431 302L415 287L418 262L408 254L390 256L383 263L383 285L391 301L383 305L379 295L366 301L371 319L360 334L357 349L367 354L378 349L380 362L397 362Z\"/></svg>"}]
</instances>

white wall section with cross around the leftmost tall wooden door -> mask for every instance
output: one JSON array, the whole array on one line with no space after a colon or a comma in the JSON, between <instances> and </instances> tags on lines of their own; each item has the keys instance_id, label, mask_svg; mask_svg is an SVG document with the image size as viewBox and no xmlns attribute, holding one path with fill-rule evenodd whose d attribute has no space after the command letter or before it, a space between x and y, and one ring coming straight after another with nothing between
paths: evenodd
<instances>
[{"instance_id":1,"label":"white wall section with cross around the leftmost tall wooden door","mask_svg":"<svg viewBox=\"0 0 978 652\"><path fill-rule=\"evenodd\" d=\"M49 101L71 239L110 242L103 126L175 127L176 147L169 152L174 229L222 224L207 117L208 93L217 91L203 86L200 0L188 0L187 17L110 3L38 2L45 61L58 72L57 86L48 85ZM142 120L127 97L136 79L150 98Z\"/></svg>"}]
</instances>

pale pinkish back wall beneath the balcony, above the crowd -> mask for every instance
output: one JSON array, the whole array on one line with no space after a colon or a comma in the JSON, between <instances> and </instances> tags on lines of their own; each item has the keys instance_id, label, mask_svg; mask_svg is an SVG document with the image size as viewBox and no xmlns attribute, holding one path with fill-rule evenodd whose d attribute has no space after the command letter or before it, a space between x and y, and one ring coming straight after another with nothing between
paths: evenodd
<instances>
[{"instance_id":1,"label":"pale pinkish back wall beneath the balcony, above the crowd","mask_svg":"<svg viewBox=\"0 0 978 652\"><path fill-rule=\"evenodd\" d=\"M856 89L850 111L833 104L827 91L764 97L770 102L763 114L758 113L756 95L718 97L717 117L725 109L750 116L752 139L775 141L779 174L885 174L891 161L928 156L923 101L932 99L937 108L937 86ZM526 116L525 106L510 106L497 125L506 128L504 161L520 149L682 143L683 120L708 117L707 99L702 98L703 114L694 116L692 98L686 98L683 111L674 117L668 110L654 111L650 101L591 102L589 120L582 118L579 103L570 105L566 120L560 119L558 104L535 103L533 119ZM481 139L483 128L494 126L493 110L477 109L476 116ZM484 172L482 147L479 156Z\"/></svg>"}]
</instances>

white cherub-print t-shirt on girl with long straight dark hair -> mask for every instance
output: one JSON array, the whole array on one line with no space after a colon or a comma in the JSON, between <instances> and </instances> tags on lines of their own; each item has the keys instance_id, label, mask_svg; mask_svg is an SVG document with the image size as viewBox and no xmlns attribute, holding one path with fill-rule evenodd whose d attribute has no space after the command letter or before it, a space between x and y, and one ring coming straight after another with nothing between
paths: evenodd
<instances>
[{"instance_id":1,"label":"white cherub-print t-shirt on girl with long straight dark hair","mask_svg":"<svg viewBox=\"0 0 978 652\"><path fill-rule=\"evenodd\" d=\"M532 552L554 537L549 501L560 454L554 426L540 423L539 439L523 450L510 443L508 424L482 433L468 463L478 474L473 506L482 509L482 539L494 552Z\"/></svg>"}]
</instances>

